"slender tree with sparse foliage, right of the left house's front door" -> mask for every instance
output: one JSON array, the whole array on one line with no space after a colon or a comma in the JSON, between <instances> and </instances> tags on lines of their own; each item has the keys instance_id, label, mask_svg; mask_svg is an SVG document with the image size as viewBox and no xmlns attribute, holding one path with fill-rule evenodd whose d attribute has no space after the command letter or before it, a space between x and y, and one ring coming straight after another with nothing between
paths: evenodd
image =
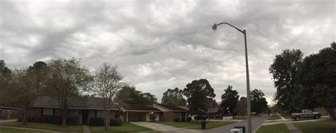
<instances>
[{"instance_id":1,"label":"slender tree with sparse foliage, right of the left house's front door","mask_svg":"<svg viewBox=\"0 0 336 133\"><path fill-rule=\"evenodd\" d=\"M113 98L116 92L123 86L121 80L123 75L118 72L117 66L103 63L102 67L96 71L94 77L94 93L103 98L105 110L105 129L110 129L110 112L113 105Z\"/></svg>"}]
</instances>

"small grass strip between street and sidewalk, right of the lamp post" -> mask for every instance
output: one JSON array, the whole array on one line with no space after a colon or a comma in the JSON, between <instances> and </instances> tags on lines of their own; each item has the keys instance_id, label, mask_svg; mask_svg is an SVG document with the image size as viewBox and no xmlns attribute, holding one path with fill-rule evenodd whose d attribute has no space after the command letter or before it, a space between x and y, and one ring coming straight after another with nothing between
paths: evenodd
<instances>
[{"instance_id":1,"label":"small grass strip between street and sidewalk, right of the lamp post","mask_svg":"<svg viewBox=\"0 0 336 133\"><path fill-rule=\"evenodd\" d=\"M257 130L257 133L269 133L269 132L290 133L289 129L284 124L262 126Z\"/></svg>"}]
</instances>

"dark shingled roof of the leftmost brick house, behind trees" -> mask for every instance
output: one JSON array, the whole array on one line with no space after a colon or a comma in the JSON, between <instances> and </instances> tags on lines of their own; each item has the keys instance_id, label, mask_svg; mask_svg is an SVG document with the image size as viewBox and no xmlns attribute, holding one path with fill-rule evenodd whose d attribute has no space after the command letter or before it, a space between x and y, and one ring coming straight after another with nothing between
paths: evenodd
<instances>
[{"instance_id":1,"label":"dark shingled roof of the leftmost brick house, behind trees","mask_svg":"<svg viewBox=\"0 0 336 133\"><path fill-rule=\"evenodd\" d=\"M56 98L43 96L35 100L33 107L59 108L59 105ZM111 107L112 110L118 109L116 105L111 105ZM72 98L72 102L69 104L69 109L103 110L103 98Z\"/></svg>"}]
</instances>

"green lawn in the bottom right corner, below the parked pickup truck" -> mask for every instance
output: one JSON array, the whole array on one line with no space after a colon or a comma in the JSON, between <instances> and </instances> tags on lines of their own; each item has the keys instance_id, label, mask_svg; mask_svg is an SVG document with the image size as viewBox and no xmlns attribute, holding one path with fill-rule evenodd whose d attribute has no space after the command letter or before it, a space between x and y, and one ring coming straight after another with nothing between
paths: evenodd
<instances>
[{"instance_id":1,"label":"green lawn in the bottom right corner, below the parked pickup truck","mask_svg":"<svg viewBox=\"0 0 336 133\"><path fill-rule=\"evenodd\" d=\"M336 121L323 120L318 122L296 122L293 123L296 127L301 129L305 133L313 132L325 132L325 133L335 133L336 132Z\"/></svg>"}]
</instances>

